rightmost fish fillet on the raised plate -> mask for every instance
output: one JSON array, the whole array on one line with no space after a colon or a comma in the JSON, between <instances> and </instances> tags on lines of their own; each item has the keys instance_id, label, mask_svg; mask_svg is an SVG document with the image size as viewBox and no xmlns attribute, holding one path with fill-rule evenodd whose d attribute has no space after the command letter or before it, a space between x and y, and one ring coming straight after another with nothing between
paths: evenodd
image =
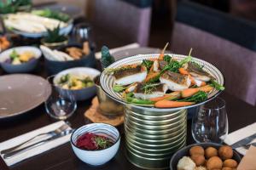
<instances>
[{"instance_id":1,"label":"rightmost fish fillet on the raised plate","mask_svg":"<svg viewBox=\"0 0 256 170\"><path fill-rule=\"evenodd\" d=\"M203 71L201 68L198 68L198 66L196 66L191 62L188 63L188 71L189 71L189 74L192 77L194 77L196 80L209 82L212 78L212 76L208 74L207 71Z\"/></svg>"}]
</instances>

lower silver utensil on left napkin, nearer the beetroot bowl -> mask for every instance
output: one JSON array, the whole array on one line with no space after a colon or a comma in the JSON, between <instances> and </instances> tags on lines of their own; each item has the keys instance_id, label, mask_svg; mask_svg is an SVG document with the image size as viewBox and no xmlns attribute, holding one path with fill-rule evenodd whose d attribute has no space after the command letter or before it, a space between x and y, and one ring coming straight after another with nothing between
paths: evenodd
<instances>
[{"instance_id":1,"label":"lower silver utensil on left napkin, nearer the beetroot bowl","mask_svg":"<svg viewBox=\"0 0 256 170\"><path fill-rule=\"evenodd\" d=\"M48 139L44 139L44 140L41 140L41 141L38 141L34 144L30 144L26 147L23 147L19 150L13 150L13 151L10 151L9 153L7 154L3 154L3 159L9 159L11 158L12 156L15 156L16 154L20 154L26 150L31 150L32 148L35 148L41 144L45 144L46 142L49 142L49 141L52 141L54 139L58 139L58 138L61 138L62 136L66 136L67 134L70 134L70 133L73 133L74 129L68 129L68 130L65 130L63 131L63 133L60 133L60 134L56 134Z\"/></svg>"}]
</instances>

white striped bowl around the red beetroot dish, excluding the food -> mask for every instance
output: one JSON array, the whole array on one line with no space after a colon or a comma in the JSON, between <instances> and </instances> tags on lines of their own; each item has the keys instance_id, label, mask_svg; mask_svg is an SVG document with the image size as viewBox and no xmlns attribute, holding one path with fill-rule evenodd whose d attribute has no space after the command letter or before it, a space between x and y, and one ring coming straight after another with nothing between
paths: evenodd
<instances>
[{"instance_id":1,"label":"white striped bowl around the red beetroot dish, excluding the food","mask_svg":"<svg viewBox=\"0 0 256 170\"><path fill-rule=\"evenodd\" d=\"M79 149L75 144L76 140L84 133L103 134L109 139L112 139L114 144L105 150L83 150ZM91 123L79 127L71 135L71 145L76 156L81 161L88 163L92 166L99 166L110 161L119 150L120 135L116 127L105 123Z\"/></svg>"}]
</instances>

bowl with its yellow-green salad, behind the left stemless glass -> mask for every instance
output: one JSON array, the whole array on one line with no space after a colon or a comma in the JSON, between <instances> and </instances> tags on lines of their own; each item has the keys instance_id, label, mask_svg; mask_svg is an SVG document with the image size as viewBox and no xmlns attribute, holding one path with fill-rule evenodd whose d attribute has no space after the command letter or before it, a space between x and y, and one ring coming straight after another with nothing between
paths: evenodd
<instances>
[{"instance_id":1,"label":"bowl with its yellow-green salad, behind the left stemless glass","mask_svg":"<svg viewBox=\"0 0 256 170\"><path fill-rule=\"evenodd\" d=\"M76 100L84 100L96 94L93 79L100 74L96 69L76 67L59 72L53 81L55 86L71 90Z\"/></svg>"}]
</instances>

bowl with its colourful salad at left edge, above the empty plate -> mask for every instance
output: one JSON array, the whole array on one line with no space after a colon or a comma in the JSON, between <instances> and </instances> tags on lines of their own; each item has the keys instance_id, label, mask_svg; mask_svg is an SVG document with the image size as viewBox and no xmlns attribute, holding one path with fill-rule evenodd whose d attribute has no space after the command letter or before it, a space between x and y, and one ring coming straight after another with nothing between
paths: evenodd
<instances>
[{"instance_id":1,"label":"bowl with its colourful salad at left edge, above the empty plate","mask_svg":"<svg viewBox=\"0 0 256 170\"><path fill-rule=\"evenodd\" d=\"M33 71L42 53L39 48L22 46L9 48L0 54L0 64L8 73Z\"/></svg>"}]
</instances>

